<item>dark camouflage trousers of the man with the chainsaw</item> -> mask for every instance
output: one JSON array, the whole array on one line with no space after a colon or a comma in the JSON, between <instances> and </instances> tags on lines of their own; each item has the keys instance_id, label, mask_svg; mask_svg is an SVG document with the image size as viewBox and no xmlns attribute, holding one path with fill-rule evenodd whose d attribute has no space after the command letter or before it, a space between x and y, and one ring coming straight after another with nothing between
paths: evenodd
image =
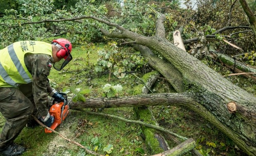
<instances>
[{"instance_id":1,"label":"dark camouflage trousers of the man with the chainsaw","mask_svg":"<svg viewBox=\"0 0 256 156\"><path fill-rule=\"evenodd\" d=\"M20 89L0 87L0 112L6 119L0 135L0 149L17 138L35 109L31 84L21 85Z\"/></svg>"}]
</instances>

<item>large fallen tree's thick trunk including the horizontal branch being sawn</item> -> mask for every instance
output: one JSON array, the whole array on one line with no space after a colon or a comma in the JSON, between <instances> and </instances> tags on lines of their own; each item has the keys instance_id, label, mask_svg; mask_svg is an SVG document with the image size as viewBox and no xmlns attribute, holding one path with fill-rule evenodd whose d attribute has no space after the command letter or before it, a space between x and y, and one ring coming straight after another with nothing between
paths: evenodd
<instances>
[{"instance_id":1,"label":"large fallen tree's thick trunk including the horizontal branch being sawn","mask_svg":"<svg viewBox=\"0 0 256 156\"><path fill-rule=\"evenodd\" d=\"M91 18L116 28L108 32L100 29L102 34L110 38L130 39L133 44L146 46L165 57L182 75L182 84L186 91L177 94L157 94L124 97L123 99L88 99L73 107L128 107L152 105L183 105L206 118L223 133L230 137L249 155L256 155L256 97L244 89L230 83L219 73L207 67L200 60L192 57L184 50L166 40L163 21L164 14L159 14L156 21L156 34L145 37L127 30L116 23L104 21L94 16L82 16L76 19ZM165 67L159 67L169 71ZM168 72L167 72L168 73ZM156 100L157 99L157 100ZM152 103L154 101L154 103ZM160 102L161 101L161 102ZM232 103L232 104L231 104ZM236 109L230 109L230 105Z\"/></svg>"}]
</instances>

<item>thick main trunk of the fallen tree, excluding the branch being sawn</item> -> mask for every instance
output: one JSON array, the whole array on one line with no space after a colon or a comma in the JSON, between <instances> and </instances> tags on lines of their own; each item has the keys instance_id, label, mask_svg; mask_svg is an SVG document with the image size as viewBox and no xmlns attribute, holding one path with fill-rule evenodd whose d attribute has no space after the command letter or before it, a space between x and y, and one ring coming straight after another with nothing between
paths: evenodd
<instances>
[{"instance_id":1,"label":"thick main trunk of the fallen tree, excluding the branch being sawn","mask_svg":"<svg viewBox=\"0 0 256 156\"><path fill-rule=\"evenodd\" d=\"M165 19L162 18L163 16L163 14L161 17L159 16L159 19ZM101 30L107 37L128 38L165 57L182 74L185 86L190 93L194 94L193 98L197 103L200 103L198 106L201 109L197 112L228 135L247 154L256 156L256 97L253 94L230 83L200 60L171 44L168 40L159 37L159 35L145 37L115 23L95 17L89 18L116 27L120 31L110 33ZM163 23L161 20L158 22ZM158 28L165 31L164 26ZM240 109L236 110L235 116L228 110L228 103L232 101ZM190 108L191 106L193 104L190 105Z\"/></svg>"}]
</instances>

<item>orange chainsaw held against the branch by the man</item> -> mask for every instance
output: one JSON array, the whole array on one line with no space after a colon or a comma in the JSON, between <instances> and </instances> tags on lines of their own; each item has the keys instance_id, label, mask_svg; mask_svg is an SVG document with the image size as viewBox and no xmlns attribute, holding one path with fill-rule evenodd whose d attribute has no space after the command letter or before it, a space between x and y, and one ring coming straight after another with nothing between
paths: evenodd
<instances>
[{"instance_id":1,"label":"orange chainsaw held against the branch by the man","mask_svg":"<svg viewBox=\"0 0 256 156\"><path fill-rule=\"evenodd\" d=\"M49 109L50 115L54 117L54 122L52 123L52 126L50 126L52 130L59 126L59 124L61 124L66 116L69 114L69 103L67 95L62 92L60 92L59 94L62 94L65 99L62 101L56 101L56 99L54 99L52 101L52 106L50 106ZM52 131L45 128L45 133L52 133Z\"/></svg>"}]
</instances>

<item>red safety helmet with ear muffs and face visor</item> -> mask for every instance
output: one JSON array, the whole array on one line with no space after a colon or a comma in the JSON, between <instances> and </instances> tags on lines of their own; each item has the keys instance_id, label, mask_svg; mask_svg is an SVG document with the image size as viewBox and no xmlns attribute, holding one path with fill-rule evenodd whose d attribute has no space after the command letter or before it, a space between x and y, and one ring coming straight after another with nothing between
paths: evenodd
<instances>
[{"instance_id":1,"label":"red safety helmet with ear muffs and face visor","mask_svg":"<svg viewBox=\"0 0 256 156\"><path fill-rule=\"evenodd\" d=\"M62 39L62 38L53 40L52 44L57 46L58 48L61 48L56 53L56 56L58 58L64 58L65 59L65 60L60 60L59 62L55 62L53 64L53 67L57 71L61 71L72 60L72 55L70 54L71 50L72 50L72 44L67 39Z\"/></svg>"}]
</instances>

